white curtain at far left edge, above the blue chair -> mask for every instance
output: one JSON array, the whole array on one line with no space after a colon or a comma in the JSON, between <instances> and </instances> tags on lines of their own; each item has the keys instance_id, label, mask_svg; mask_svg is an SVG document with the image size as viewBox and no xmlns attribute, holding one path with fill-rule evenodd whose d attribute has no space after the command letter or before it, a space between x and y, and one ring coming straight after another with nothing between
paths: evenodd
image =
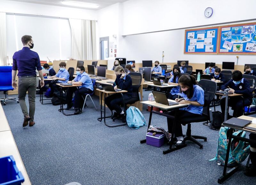
<instances>
[{"instance_id":1,"label":"white curtain at far left edge, above the blue chair","mask_svg":"<svg viewBox=\"0 0 256 185\"><path fill-rule=\"evenodd\" d=\"M7 65L6 14L0 12L0 66Z\"/></svg>"}]
</instances>

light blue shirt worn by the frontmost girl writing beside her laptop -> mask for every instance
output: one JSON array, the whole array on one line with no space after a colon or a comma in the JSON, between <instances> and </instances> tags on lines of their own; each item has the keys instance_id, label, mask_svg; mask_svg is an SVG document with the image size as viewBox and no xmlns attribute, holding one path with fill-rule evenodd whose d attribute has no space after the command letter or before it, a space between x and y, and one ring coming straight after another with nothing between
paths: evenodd
<instances>
[{"instance_id":1,"label":"light blue shirt worn by the frontmost girl writing beside her laptop","mask_svg":"<svg viewBox=\"0 0 256 185\"><path fill-rule=\"evenodd\" d=\"M204 104L204 90L199 86L199 85L194 85L194 92L193 92L193 96L192 98L188 98L186 94L184 94L183 92L181 93L181 95L183 96L183 98L185 100L189 100L189 101L196 101L199 104L203 105ZM185 108L181 108L180 110L184 110L184 111L188 111L194 114L200 114L202 115L203 113L203 106L195 106L195 105L188 105L188 107Z\"/></svg>"}]
</instances>

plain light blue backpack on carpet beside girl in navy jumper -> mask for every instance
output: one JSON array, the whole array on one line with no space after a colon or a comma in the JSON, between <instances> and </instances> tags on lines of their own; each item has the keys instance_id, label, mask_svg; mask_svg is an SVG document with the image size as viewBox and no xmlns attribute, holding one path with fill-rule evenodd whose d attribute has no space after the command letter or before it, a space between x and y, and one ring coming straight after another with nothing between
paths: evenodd
<instances>
[{"instance_id":1,"label":"plain light blue backpack on carpet beside girl in navy jumper","mask_svg":"<svg viewBox=\"0 0 256 185\"><path fill-rule=\"evenodd\" d=\"M143 125L146 125L146 120L143 114L137 107L129 107L126 110L126 122L128 127L138 129Z\"/></svg>"}]
</instances>

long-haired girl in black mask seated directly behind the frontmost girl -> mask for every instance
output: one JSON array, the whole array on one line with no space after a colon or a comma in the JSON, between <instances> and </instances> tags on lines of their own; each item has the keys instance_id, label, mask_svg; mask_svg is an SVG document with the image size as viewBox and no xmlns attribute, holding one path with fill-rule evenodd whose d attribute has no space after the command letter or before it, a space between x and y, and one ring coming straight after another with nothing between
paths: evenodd
<instances>
[{"instance_id":1,"label":"long-haired girl in black mask seated directly behind the frontmost girl","mask_svg":"<svg viewBox=\"0 0 256 185\"><path fill-rule=\"evenodd\" d=\"M178 83L179 78L180 78L180 68L175 66L175 67L173 67L172 71L174 72L174 76L172 76L169 79L168 84L169 85L177 85L177 86L173 87L171 89L171 92L169 93L168 98L172 99L172 100L175 100L180 95L180 86L179 86L179 83ZM182 96L180 96L180 97L182 97Z\"/></svg>"}]
</instances>

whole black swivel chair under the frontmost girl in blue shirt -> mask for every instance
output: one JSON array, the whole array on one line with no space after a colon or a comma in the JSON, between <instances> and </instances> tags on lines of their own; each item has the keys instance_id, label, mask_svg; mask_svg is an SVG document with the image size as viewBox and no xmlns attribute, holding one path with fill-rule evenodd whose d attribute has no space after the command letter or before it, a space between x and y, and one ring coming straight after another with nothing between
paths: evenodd
<instances>
[{"instance_id":1,"label":"whole black swivel chair under the frontmost girl in blue shirt","mask_svg":"<svg viewBox=\"0 0 256 185\"><path fill-rule=\"evenodd\" d=\"M195 122L204 122L204 121L210 121L210 104L212 102L212 99L215 96L216 90L217 90L217 83L210 80L200 80L198 84L204 89L204 106L203 106L203 113L202 115L199 115L195 118L184 118L181 119L179 122L182 123L182 125L188 124L187 133L184 135L185 141L192 141L200 146L200 149L203 149L203 145L199 143L196 139L204 139L204 141L207 141L206 137L198 136L198 135L191 135L191 123Z\"/></svg>"}]
</instances>

